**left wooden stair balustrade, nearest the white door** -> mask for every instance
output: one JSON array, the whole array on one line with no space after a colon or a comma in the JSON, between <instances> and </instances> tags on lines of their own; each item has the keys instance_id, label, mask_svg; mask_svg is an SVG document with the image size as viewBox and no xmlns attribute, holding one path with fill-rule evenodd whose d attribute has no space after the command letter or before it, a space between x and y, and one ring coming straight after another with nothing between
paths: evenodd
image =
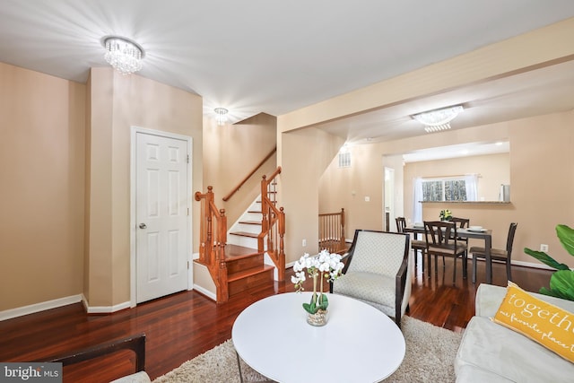
<instances>
[{"instance_id":1,"label":"left wooden stair balustrade, nearest the white door","mask_svg":"<svg viewBox=\"0 0 574 383\"><path fill-rule=\"evenodd\" d=\"M216 288L217 303L229 299L225 245L227 243L227 217L225 209L218 209L213 197L213 187L207 193L196 192L196 201L202 201L199 233L199 259L211 274Z\"/></svg>"}]
</instances>

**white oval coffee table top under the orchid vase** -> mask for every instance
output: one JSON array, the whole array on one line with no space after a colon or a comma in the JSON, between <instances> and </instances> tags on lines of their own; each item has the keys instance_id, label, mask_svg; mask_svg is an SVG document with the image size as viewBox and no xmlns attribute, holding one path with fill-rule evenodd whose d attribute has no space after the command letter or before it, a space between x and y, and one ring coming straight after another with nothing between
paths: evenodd
<instances>
[{"instance_id":1,"label":"white oval coffee table top under the orchid vase","mask_svg":"<svg viewBox=\"0 0 574 383\"><path fill-rule=\"evenodd\" d=\"M404 359L404 336L378 309L328 294L326 326L310 326L311 292L273 295L244 309L231 338L248 365L279 382L378 382Z\"/></svg>"}]
</instances>

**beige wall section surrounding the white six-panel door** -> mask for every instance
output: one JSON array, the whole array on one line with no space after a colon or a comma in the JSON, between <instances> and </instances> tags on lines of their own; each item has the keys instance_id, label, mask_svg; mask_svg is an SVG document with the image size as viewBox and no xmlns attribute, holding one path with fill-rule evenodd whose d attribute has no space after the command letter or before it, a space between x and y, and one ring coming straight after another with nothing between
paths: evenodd
<instances>
[{"instance_id":1,"label":"beige wall section surrounding the white six-panel door","mask_svg":"<svg viewBox=\"0 0 574 383\"><path fill-rule=\"evenodd\" d=\"M203 187L201 98L138 75L92 69L90 306L130 300L131 126L192 137L192 187ZM192 214L195 246L199 212L194 205Z\"/></svg>"}]
</instances>

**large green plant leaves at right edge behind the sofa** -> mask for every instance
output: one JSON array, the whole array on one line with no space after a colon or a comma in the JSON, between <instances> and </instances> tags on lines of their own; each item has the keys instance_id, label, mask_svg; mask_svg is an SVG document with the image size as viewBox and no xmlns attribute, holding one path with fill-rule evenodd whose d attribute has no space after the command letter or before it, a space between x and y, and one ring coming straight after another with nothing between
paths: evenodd
<instances>
[{"instance_id":1,"label":"large green plant leaves at right edge behind the sofa","mask_svg":"<svg viewBox=\"0 0 574 383\"><path fill-rule=\"evenodd\" d=\"M570 256L574 257L574 229L571 229L567 225L557 225L556 235L558 239L560 239L562 247L568 251ZM524 252L557 270L552 273L550 277L550 289L542 287L540 289L541 294L550 295L563 300L574 300L574 271L570 270L568 265L558 263L554 258L544 253L544 251L535 251L530 248L525 248Z\"/></svg>"}]
</instances>

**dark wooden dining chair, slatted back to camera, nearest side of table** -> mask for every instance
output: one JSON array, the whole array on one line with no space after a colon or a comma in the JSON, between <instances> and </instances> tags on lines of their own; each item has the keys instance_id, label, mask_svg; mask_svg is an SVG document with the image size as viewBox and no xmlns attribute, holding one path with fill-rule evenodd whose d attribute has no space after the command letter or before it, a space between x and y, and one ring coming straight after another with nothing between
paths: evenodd
<instances>
[{"instance_id":1,"label":"dark wooden dining chair, slatted back to camera, nearest side of table","mask_svg":"<svg viewBox=\"0 0 574 383\"><path fill-rule=\"evenodd\" d=\"M442 256L442 266L445 265L445 257L454 258L452 283L457 281L457 257L463 259L463 277L466 277L466 250L465 243L459 243L457 236L457 224L455 222L425 221L424 239L426 241L427 267L430 268L431 256L434 256L434 272L439 273L438 257Z\"/></svg>"}]
</instances>

